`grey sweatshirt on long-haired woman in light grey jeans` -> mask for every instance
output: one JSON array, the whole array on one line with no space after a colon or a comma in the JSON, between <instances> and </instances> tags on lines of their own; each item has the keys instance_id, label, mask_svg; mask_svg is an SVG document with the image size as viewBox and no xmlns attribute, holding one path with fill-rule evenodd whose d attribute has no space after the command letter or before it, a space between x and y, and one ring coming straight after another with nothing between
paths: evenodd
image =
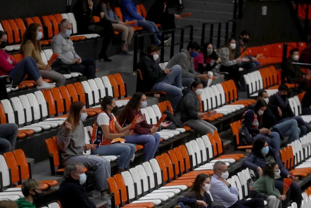
<instances>
[{"instance_id":1,"label":"grey sweatshirt on long-haired woman in light grey jeans","mask_svg":"<svg viewBox=\"0 0 311 208\"><path fill-rule=\"evenodd\" d=\"M83 155L85 148L85 131L82 121L74 132L66 133L65 127L61 126L57 135L57 145L62 153L63 161L68 157Z\"/></svg>"}]
</instances>

